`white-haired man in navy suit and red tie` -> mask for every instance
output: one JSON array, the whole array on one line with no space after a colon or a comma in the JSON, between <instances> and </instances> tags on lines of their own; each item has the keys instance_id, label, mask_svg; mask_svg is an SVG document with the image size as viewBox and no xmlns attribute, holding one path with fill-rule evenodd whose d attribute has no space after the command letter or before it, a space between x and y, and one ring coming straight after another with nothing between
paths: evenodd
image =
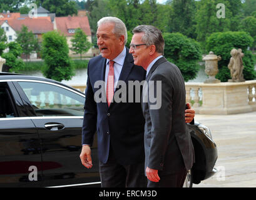
<instances>
[{"instance_id":1,"label":"white-haired man in navy suit and red tie","mask_svg":"<svg viewBox=\"0 0 256 200\"><path fill-rule=\"evenodd\" d=\"M116 17L100 19L96 36L101 55L90 59L88 63L81 163L86 168L93 166L90 146L97 132L101 186L146 187L143 144L145 119L141 103L136 101L136 94L128 90L128 81L141 83L145 80L146 71L133 63L133 57L125 47L126 27L120 19ZM105 84L95 87L98 81L104 81ZM108 99L110 93L108 91L111 91L113 86L117 93L120 89L119 81L127 86L125 87L127 101L117 103L112 96ZM106 101L96 101L95 93L98 93L99 89L106 92L101 93L100 97L106 98ZM131 93L133 98L129 98ZM195 111L187 109L186 112L186 122L190 123Z\"/></svg>"}]
</instances>

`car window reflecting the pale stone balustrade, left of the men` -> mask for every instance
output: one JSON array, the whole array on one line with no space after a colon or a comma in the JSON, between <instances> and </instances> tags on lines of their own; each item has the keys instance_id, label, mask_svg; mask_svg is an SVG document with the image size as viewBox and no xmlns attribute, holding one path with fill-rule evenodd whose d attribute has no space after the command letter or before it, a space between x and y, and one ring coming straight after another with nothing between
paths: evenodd
<instances>
[{"instance_id":1,"label":"car window reflecting the pale stone balustrade, left of the men","mask_svg":"<svg viewBox=\"0 0 256 200\"><path fill-rule=\"evenodd\" d=\"M46 83L18 82L37 116L83 116L84 97Z\"/></svg>"}]
</instances>

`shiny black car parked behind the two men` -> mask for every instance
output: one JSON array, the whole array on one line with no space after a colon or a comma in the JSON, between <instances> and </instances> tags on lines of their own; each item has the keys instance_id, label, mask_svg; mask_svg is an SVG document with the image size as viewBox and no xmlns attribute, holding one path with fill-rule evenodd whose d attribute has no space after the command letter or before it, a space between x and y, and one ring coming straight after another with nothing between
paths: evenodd
<instances>
[{"instance_id":1,"label":"shiny black car parked behind the two men","mask_svg":"<svg viewBox=\"0 0 256 200\"><path fill-rule=\"evenodd\" d=\"M100 186L96 134L93 168L79 159L84 101L84 93L58 81L0 73L0 187ZM207 127L188 126L192 186L213 175L217 148Z\"/></svg>"}]
</instances>

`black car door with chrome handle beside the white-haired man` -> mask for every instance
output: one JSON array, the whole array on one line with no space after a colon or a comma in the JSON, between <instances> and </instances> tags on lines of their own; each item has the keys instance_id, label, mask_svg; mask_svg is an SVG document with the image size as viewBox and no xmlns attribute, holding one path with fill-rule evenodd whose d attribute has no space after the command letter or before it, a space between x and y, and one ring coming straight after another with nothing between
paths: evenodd
<instances>
[{"instance_id":1,"label":"black car door with chrome handle beside the white-haired man","mask_svg":"<svg viewBox=\"0 0 256 200\"><path fill-rule=\"evenodd\" d=\"M18 81L36 116L32 119L42 146L43 186L99 183L96 146L92 148L93 169L81 164L81 128L84 94L47 81Z\"/></svg>"}]
</instances>

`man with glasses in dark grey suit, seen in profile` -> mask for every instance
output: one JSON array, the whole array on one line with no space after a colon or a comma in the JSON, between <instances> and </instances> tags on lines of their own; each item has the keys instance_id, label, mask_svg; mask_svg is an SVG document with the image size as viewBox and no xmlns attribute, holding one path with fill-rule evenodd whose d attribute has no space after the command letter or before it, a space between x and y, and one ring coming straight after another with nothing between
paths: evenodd
<instances>
[{"instance_id":1,"label":"man with glasses in dark grey suit, seen in profile","mask_svg":"<svg viewBox=\"0 0 256 200\"><path fill-rule=\"evenodd\" d=\"M185 83L177 66L163 57L165 42L160 30L142 25L133 34L130 53L134 63L146 70L142 104L148 187L182 187L194 163L184 116Z\"/></svg>"}]
</instances>

